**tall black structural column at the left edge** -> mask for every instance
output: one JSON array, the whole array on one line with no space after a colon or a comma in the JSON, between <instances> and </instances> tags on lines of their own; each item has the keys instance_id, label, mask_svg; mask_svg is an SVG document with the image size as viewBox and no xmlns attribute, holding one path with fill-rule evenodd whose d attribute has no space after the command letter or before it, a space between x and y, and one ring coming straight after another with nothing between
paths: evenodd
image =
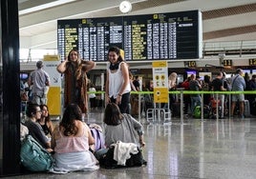
<instances>
[{"instance_id":1,"label":"tall black structural column at the left edge","mask_svg":"<svg viewBox=\"0 0 256 179\"><path fill-rule=\"evenodd\" d=\"M20 173L20 83L17 0L0 4L0 176Z\"/></svg>"}]
</instances>

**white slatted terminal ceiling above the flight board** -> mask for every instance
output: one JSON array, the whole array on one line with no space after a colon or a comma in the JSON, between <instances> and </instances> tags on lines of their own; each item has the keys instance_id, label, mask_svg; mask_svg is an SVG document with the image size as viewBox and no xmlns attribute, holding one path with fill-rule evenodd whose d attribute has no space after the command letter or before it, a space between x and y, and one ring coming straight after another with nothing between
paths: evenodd
<instances>
[{"instance_id":1,"label":"white slatted terminal ceiling above the flight board","mask_svg":"<svg viewBox=\"0 0 256 179\"><path fill-rule=\"evenodd\" d=\"M66 0L18 0L21 49L56 49L57 20L125 15L121 0L74 0L44 10L48 3ZM256 41L256 0L130 0L128 15L202 10L203 42Z\"/></svg>"}]
</instances>

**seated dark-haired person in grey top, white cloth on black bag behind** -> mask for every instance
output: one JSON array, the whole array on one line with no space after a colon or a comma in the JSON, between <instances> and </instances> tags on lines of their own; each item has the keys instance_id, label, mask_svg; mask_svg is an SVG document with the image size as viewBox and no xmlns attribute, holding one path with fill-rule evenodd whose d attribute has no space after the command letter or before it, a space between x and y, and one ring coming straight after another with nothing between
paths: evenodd
<instances>
[{"instance_id":1,"label":"seated dark-haired person in grey top, white cloth on black bag behind","mask_svg":"<svg viewBox=\"0 0 256 179\"><path fill-rule=\"evenodd\" d=\"M113 168L111 165L119 165L125 166L125 160L122 161L118 160L114 153L119 153L120 150L115 149L122 149L122 151L127 152L127 150L133 153L134 150L140 147L144 147L145 143L143 140L143 129L142 125L133 118L130 114L121 113L118 106L115 103L109 103L106 106L104 112L103 122L105 126L105 146L107 149L99 149L96 151L96 157L98 158L101 165L110 168ZM125 148L125 149L124 149ZM104 159L104 156L108 155L108 151L112 150L114 156L112 158ZM134 152L136 154L137 152ZM121 155L121 153L119 153ZM129 154L129 152L128 152ZM141 154L141 153L140 153ZM115 158L116 157L116 158ZM110 160L113 161L113 158L116 160L117 163L110 164ZM132 157L131 157L132 158ZM145 164L145 161L140 157L141 163L137 163L135 166L141 166ZM106 164L110 166L106 166ZM128 167L132 167L127 165Z\"/></svg>"}]
</instances>

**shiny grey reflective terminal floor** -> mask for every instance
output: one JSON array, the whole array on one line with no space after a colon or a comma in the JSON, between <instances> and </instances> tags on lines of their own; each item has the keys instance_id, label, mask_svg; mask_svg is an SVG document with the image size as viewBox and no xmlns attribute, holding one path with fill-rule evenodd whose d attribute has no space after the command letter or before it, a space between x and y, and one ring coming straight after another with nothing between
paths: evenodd
<instances>
[{"instance_id":1,"label":"shiny grey reflective terminal floor","mask_svg":"<svg viewBox=\"0 0 256 179\"><path fill-rule=\"evenodd\" d=\"M86 122L102 125L102 112ZM256 118L244 120L173 119L172 124L145 124L146 167L99 169L68 174L37 173L12 178L256 178Z\"/></svg>"}]
</instances>

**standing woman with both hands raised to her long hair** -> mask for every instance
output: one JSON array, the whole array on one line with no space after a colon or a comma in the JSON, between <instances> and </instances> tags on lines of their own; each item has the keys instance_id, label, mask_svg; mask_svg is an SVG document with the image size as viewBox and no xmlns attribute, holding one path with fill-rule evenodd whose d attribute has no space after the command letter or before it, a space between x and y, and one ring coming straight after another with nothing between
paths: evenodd
<instances>
[{"instance_id":1,"label":"standing woman with both hands raised to her long hair","mask_svg":"<svg viewBox=\"0 0 256 179\"><path fill-rule=\"evenodd\" d=\"M57 66L64 73L64 108L75 103L83 113L88 110L86 72L96 67L94 61L85 61L79 57L78 50L71 50L68 58Z\"/></svg>"}]
</instances>

